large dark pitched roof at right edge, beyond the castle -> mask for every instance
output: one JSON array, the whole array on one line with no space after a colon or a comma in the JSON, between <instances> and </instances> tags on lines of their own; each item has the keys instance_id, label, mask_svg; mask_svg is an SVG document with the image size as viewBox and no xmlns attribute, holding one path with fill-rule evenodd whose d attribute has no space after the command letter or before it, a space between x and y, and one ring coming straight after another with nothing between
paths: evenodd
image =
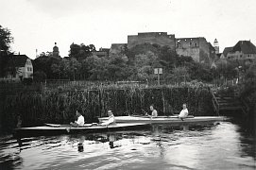
<instances>
[{"instance_id":1,"label":"large dark pitched roof at right edge, beyond the castle","mask_svg":"<svg viewBox=\"0 0 256 170\"><path fill-rule=\"evenodd\" d=\"M232 48L232 52L236 51L242 51L244 54L256 54L256 46L250 41L239 41Z\"/></svg>"}]
</instances>

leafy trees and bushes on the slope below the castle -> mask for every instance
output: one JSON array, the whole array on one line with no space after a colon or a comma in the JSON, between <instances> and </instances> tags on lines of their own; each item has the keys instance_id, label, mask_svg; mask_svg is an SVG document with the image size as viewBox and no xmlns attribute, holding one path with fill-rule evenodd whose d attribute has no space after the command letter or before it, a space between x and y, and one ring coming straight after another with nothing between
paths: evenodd
<instances>
[{"instance_id":1,"label":"leafy trees and bushes on the slope below the castle","mask_svg":"<svg viewBox=\"0 0 256 170\"><path fill-rule=\"evenodd\" d=\"M150 80L156 79L154 68L162 67L162 79L176 82L198 80L212 82L214 78L234 78L238 66L235 61L216 67L209 63L196 62L191 57L178 56L168 46L158 44L139 44L130 49L124 46L120 52L109 57L93 55L94 45L72 43L69 57L60 58L51 55L33 60L34 80L70 79L70 80ZM247 66L248 67L248 66ZM246 67L243 67L244 69Z\"/></svg>"}]
</instances>

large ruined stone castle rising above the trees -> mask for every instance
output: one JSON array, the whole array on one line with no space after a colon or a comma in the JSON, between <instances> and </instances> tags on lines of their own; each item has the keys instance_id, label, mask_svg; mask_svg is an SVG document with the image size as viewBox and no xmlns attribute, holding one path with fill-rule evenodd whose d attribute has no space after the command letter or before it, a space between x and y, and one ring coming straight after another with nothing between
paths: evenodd
<instances>
[{"instance_id":1,"label":"large ruined stone castle rising above the trees","mask_svg":"<svg viewBox=\"0 0 256 170\"><path fill-rule=\"evenodd\" d=\"M207 42L204 37L176 38L167 32L141 32L138 35L128 35L128 43L112 43L110 53L119 53L127 46L129 49L139 44L154 44L168 46L179 56L192 57L197 62L211 63L218 53L218 42Z\"/></svg>"}]
</instances>

